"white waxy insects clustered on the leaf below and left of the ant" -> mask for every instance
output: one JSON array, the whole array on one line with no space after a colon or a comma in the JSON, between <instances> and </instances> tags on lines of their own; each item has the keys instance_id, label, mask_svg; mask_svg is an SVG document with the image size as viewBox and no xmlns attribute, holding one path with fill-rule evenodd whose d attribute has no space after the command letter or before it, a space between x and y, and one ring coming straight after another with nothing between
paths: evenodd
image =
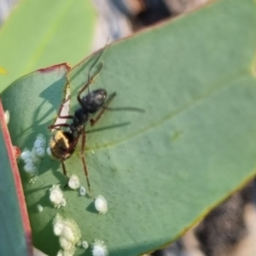
<instances>
[{"instance_id":1,"label":"white waxy insects clustered on the leaf below and left of the ant","mask_svg":"<svg viewBox=\"0 0 256 256\"><path fill-rule=\"evenodd\" d=\"M38 168L41 160L45 155L46 139L43 134L38 134L32 149L24 148L20 154L20 159L23 161L23 169L28 175L29 182L34 182L38 177ZM75 174L71 175L67 183L68 187L73 190L79 189L79 195L86 195L86 189L80 185L79 177ZM67 201L64 198L60 184L54 184L49 189L49 201L55 208L66 207ZM108 202L102 195L95 198L94 205L96 211L100 214L108 212ZM44 207L37 205L38 212L43 212ZM79 225L72 218L62 218L59 213L56 214L53 222L55 236L59 236L61 250L57 256L72 256L75 253L76 247L89 247L87 241L81 241L81 232ZM91 244L91 252L93 256L107 256L108 249L104 241L95 240Z\"/></svg>"}]
</instances>

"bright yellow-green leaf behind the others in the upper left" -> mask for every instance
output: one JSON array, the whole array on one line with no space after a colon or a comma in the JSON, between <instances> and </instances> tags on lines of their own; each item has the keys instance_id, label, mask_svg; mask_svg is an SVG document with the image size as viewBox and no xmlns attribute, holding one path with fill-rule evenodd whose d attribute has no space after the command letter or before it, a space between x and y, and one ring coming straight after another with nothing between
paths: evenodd
<instances>
[{"instance_id":1,"label":"bright yellow-green leaf behind the others in the upper left","mask_svg":"<svg viewBox=\"0 0 256 256\"><path fill-rule=\"evenodd\" d=\"M90 1L21 1L0 32L0 91L35 69L80 61L95 23Z\"/></svg>"}]
</instances>

